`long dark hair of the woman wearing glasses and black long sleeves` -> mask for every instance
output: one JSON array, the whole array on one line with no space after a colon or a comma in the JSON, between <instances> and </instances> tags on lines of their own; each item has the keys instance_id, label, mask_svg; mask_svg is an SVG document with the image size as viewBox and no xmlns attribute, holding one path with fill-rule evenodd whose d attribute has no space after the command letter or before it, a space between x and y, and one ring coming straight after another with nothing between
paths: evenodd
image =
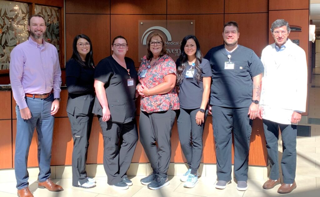
<instances>
[{"instance_id":1,"label":"long dark hair of the woman wearing glasses and black long sleeves","mask_svg":"<svg viewBox=\"0 0 320 197\"><path fill-rule=\"evenodd\" d=\"M82 61L82 59L77 51L77 42L78 42L79 38L83 38L90 43L90 51L85 56L85 63ZM95 66L94 62L93 62L92 43L91 43L90 38L87 35L84 35L84 34L76 35L76 37L73 39L72 49L73 49L73 53L72 53L71 59L76 60L82 67L92 68Z\"/></svg>"}]
</instances>

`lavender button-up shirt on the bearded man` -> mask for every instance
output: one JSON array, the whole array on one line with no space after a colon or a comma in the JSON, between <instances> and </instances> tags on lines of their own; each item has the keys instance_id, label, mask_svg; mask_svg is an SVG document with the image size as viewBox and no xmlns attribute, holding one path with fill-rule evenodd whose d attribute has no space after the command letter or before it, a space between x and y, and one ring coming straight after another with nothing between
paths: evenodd
<instances>
[{"instance_id":1,"label":"lavender button-up shirt on the bearded man","mask_svg":"<svg viewBox=\"0 0 320 197\"><path fill-rule=\"evenodd\" d=\"M43 40L38 44L30 37L10 54L10 82L13 98L20 109L28 107L25 94L45 94L53 90L60 98L61 69L58 51Z\"/></svg>"}]
</instances>

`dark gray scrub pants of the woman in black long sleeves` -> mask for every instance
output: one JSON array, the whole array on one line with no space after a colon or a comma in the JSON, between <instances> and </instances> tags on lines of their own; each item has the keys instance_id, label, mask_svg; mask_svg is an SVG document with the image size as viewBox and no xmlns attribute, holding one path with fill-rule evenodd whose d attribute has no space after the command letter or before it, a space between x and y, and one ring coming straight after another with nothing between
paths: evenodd
<instances>
[{"instance_id":1,"label":"dark gray scrub pants of the woman in black long sleeves","mask_svg":"<svg viewBox=\"0 0 320 197\"><path fill-rule=\"evenodd\" d=\"M72 185L78 185L78 181L82 185L88 181L85 163L87 161L93 114L87 116L67 114L73 138Z\"/></svg>"}]
</instances>

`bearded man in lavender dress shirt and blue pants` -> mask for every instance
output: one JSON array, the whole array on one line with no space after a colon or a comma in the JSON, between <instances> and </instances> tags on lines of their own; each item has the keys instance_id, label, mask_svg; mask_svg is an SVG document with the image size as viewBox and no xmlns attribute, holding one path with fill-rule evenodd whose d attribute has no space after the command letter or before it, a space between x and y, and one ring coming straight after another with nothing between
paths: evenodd
<instances>
[{"instance_id":1,"label":"bearded man in lavender dress shirt and blue pants","mask_svg":"<svg viewBox=\"0 0 320 197\"><path fill-rule=\"evenodd\" d=\"M60 104L61 70L57 49L44 41L44 18L33 15L28 21L30 37L11 52L10 81L17 103L17 135L14 167L18 196L33 196L28 183L28 153L36 128L38 134L39 188L60 191L49 178L54 114Z\"/></svg>"}]
</instances>

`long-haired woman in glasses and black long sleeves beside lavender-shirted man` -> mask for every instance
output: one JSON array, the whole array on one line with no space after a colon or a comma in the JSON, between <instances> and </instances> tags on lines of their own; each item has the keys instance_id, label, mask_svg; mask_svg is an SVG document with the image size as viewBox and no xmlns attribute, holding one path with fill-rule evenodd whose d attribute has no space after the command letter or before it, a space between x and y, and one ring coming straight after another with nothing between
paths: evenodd
<instances>
[{"instance_id":1,"label":"long-haired woman in glasses and black long sleeves beside lavender-shirted man","mask_svg":"<svg viewBox=\"0 0 320 197\"><path fill-rule=\"evenodd\" d=\"M85 171L93 117L93 75L91 40L84 34L77 35L73 40L72 56L66 64L67 112L73 138L72 185L83 188L95 186L95 180L87 177Z\"/></svg>"}]
</instances>

